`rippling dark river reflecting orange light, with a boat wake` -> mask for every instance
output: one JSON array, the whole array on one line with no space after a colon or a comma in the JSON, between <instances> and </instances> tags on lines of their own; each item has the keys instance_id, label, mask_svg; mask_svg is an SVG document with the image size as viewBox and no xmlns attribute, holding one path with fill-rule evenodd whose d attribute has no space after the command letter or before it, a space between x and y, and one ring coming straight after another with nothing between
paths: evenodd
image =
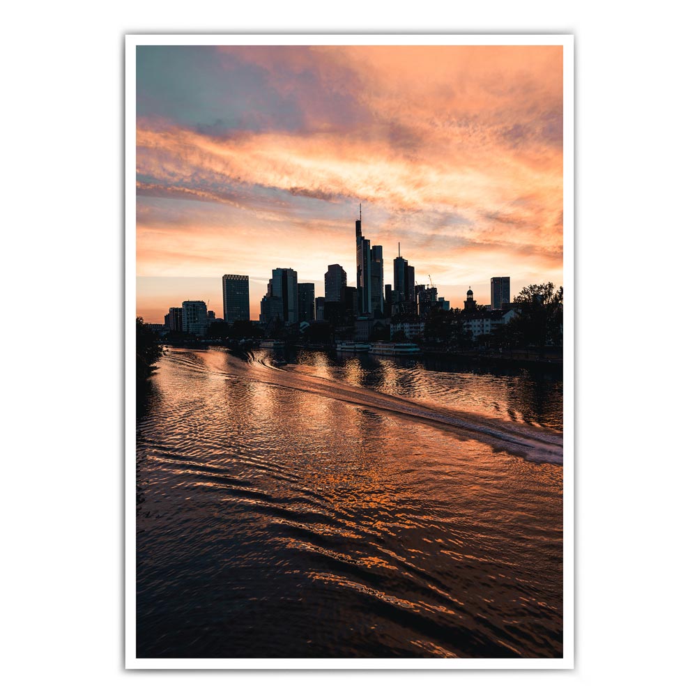
<instances>
[{"instance_id":1,"label":"rippling dark river reflecting orange light, with a boat wake","mask_svg":"<svg viewBox=\"0 0 697 697\"><path fill-rule=\"evenodd\" d=\"M286 358L160 362L138 657L560 657L560 375Z\"/></svg>"}]
</instances>

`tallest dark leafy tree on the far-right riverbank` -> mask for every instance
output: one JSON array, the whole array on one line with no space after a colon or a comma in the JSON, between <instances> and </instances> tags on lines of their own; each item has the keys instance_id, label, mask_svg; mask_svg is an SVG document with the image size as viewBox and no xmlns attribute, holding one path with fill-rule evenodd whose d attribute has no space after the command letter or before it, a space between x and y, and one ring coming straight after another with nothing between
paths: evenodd
<instances>
[{"instance_id":1,"label":"tallest dark leafy tree on the far-right riverbank","mask_svg":"<svg viewBox=\"0 0 697 697\"><path fill-rule=\"evenodd\" d=\"M519 337L519 342L533 344L544 350L544 346L562 343L564 315L564 289L555 291L552 282L526 286L514 298L516 316L509 323L509 336Z\"/></svg>"}]
</instances>

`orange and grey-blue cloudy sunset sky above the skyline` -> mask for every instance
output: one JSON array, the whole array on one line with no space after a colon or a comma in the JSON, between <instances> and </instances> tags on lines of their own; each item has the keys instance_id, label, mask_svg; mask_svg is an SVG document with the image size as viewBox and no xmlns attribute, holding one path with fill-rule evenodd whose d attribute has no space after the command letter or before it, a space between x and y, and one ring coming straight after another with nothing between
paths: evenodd
<instances>
[{"instance_id":1,"label":"orange and grey-blue cloudy sunset sky above the skyline","mask_svg":"<svg viewBox=\"0 0 697 697\"><path fill-rule=\"evenodd\" d=\"M137 48L137 314L271 270L355 286L355 231L462 307L562 284L562 47Z\"/></svg>"}]
</instances>

